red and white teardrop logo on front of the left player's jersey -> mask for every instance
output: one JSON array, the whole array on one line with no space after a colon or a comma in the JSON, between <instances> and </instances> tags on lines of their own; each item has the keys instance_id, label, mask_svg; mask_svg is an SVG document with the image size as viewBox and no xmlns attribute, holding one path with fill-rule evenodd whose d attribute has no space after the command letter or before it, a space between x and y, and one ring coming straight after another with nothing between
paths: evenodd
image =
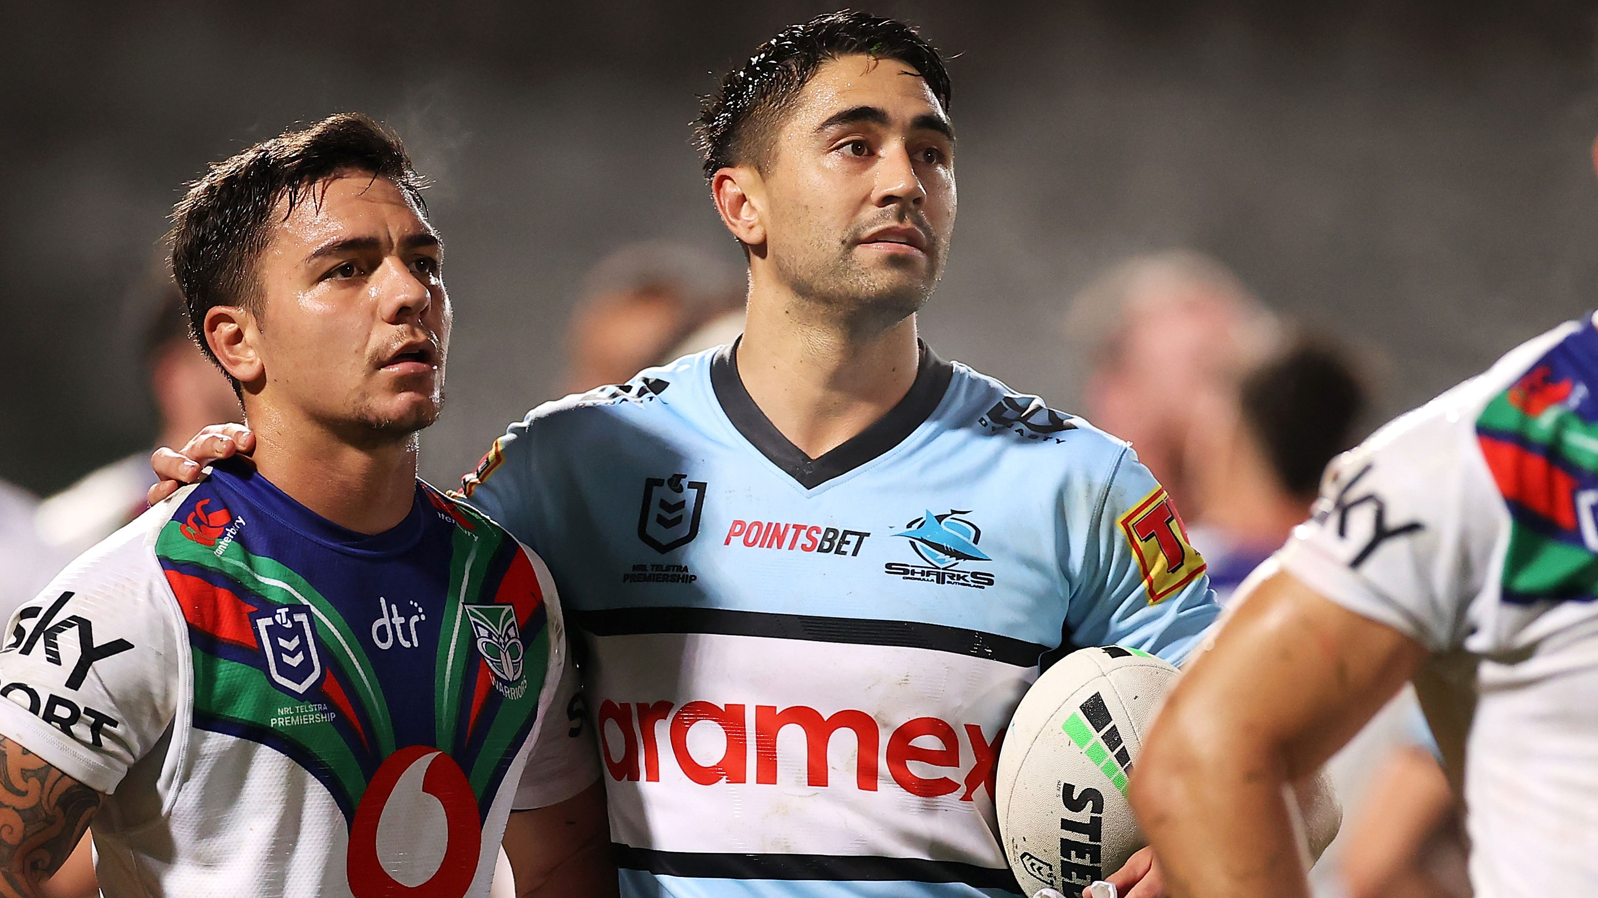
<instances>
[{"instance_id":1,"label":"red and white teardrop logo on front of the left player's jersey","mask_svg":"<svg viewBox=\"0 0 1598 898\"><path fill-rule=\"evenodd\" d=\"M478 872L478 799L455 759L412 745L390 754L350 826L355 898L462 898Z\"/></svg>"}]
</instances>

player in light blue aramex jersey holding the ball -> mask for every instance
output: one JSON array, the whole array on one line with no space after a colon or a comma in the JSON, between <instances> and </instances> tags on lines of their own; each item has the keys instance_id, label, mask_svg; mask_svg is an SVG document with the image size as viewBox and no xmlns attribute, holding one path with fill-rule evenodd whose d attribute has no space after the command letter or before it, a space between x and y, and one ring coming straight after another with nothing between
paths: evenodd
<instances>
[{"instance_id":1,"label":"player in light blue aramex jersey holding the ball","mask_svg":"<svg viewBox=\"0 0 1598 898\"><path fill-rule=\"evenodd\" d=\"M700 120L743 337L534 409L465 478L582 636L623 895L1012 895L994 761L1040 668L1181 662L1216 618L1123 441L917 339L954 228L948 107L900 22L762 45ZM1310 823L1325 845L1336 815ZM1114 880L1163 893L1149 871Z\"/></svg>"}]
</instances>

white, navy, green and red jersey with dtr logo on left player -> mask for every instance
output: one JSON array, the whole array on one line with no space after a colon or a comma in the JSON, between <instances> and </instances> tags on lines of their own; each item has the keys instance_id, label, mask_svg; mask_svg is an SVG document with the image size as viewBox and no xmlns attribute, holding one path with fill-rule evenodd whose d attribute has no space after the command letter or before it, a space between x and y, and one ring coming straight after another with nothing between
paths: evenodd
<instances>
[{"instance_id":1,"label":"white, navy, green and red jersey with dtr logo on left player","mask_svg":"<svg viewBox=\"0 0 1598 898\"><path fill-rule=\"evenodd\" d=\"M219 465L18 610L0 733L104 794L109 898L487 895L511 809L598 775L564 668L476 510L419 483L363 535Z\"/></svg>"}]
</instances>

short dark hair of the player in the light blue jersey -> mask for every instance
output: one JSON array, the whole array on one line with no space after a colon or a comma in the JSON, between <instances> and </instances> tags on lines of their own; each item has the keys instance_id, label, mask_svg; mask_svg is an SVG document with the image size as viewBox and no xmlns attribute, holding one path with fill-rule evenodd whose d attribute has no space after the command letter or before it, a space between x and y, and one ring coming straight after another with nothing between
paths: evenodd
<instances>
[{"instance_id":1,"label":"short dark hair of the player in the light blue jersey","mask_svg":"<svg viewBox=\"0 0 1598 898\"><path fill-rule=\"evenodd\" d=\"M821 62L853 54L911 66L948 112L949 72L938 51L916 29L850 10L828 13L777 32L743 66L727 72L714 94L705 97L694 126L695 142L705 157L705 177L748 161L757 150L756 137L770 129Z\"/></svg>"}]
</instances>

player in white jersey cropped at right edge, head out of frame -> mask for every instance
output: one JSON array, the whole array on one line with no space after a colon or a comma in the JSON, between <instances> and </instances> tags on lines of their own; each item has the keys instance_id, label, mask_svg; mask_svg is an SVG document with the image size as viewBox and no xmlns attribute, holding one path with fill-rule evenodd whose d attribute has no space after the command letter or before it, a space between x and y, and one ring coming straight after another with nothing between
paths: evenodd
<instances>
[{"instance_id":1,"label":"player in white jersey cropped at right edge, head out of frame","mask_svg":"<svg viewBox=\"0 0 1598 898\"><path fill-rule=\"evenodd\" d=\"M1413 679L1475 895L1598 895L1595 508L1590 315L1336 459L1144 745L1131 799L1171 892L1307 896L1282 786Z\"/></svg>"}]
</instances>

